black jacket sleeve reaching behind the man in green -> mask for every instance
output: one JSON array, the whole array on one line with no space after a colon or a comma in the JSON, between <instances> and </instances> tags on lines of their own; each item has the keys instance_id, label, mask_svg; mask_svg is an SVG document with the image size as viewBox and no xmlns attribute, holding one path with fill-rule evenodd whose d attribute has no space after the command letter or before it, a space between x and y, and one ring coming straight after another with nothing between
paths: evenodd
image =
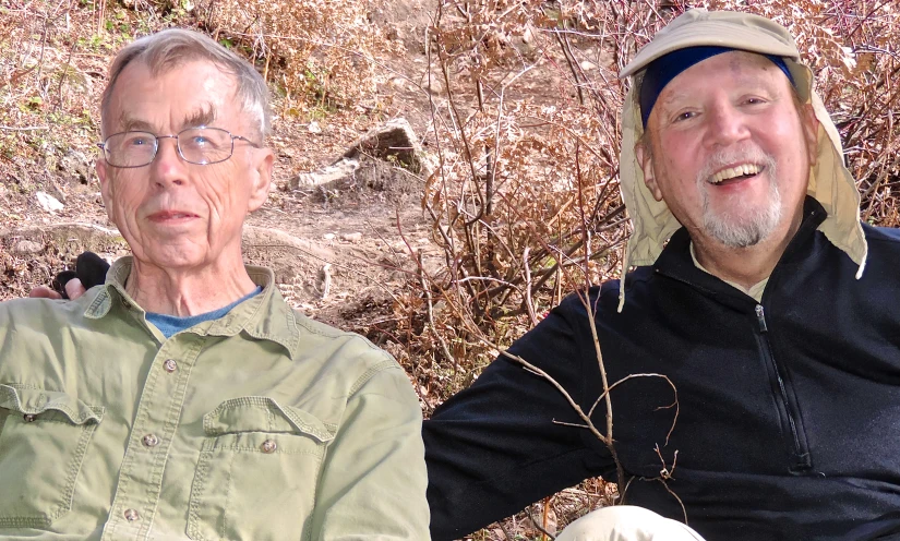
<instances>
[{"instance_id":1,"label":"black jacket sleeve reaching behind the man in green","mask_svg":"<svg viewBox=\"0 0 900 541\"><path fill-rule=\"evenodd\" d=\"M592 349L579 345L590 333L580 303L566 299L509 352L552 375L587 412L585 389L602 386ZM439 407L422 431L432 539L459 539L590 477L614 479L599 441L554 421L584 424L556 388L503 354Z\"/></svg>"}]
</instances>

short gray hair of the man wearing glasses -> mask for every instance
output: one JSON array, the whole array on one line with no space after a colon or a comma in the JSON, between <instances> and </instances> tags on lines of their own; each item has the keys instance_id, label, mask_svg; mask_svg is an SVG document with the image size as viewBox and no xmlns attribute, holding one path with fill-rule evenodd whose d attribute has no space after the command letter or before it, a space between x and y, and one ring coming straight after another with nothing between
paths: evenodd
<instances>
[{"instance_id":1,"label":"short gray hair of the man wearing glasses","mask_svg":"<svg viewBox=\"0 0 900 541\"><path fill-rule=\"evenodd\" d=\"M107 131L108 109L112 89L119 75L134 60L143 61L151 73L158 75L191 60L205 60L235 77L241 108L257 122L259 134L265 137L272 131L272 111L268 87L262 75L247 60L226 49L208 36L184 28L167 28L135 39L123 47L109 68L109 84L104 89L100 110L103 129Z\"/></svg>"}]
</instances>

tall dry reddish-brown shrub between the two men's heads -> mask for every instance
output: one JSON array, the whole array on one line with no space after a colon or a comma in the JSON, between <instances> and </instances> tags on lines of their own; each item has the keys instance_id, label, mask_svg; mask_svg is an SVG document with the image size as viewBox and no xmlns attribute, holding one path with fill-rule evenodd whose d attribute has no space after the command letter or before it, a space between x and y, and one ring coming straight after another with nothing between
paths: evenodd
<instances>
[{"instance_id":1,"label":"tall dry reddish-brown shrub between the two men's heads","mask_svg":"<svg viewBox=\"0 0 900 541\"><path fill-rule=\"evenodd\" d=\"M444 89L432 98L440 168L422 205L443 265L422 265L428 294L409 323L421 329L409 354L437 366L420 382L432 401L562 296L617 272L616 73L661 23L624 1L440 3L428 50L429 86Z\"/></svg>"}]
</instances>

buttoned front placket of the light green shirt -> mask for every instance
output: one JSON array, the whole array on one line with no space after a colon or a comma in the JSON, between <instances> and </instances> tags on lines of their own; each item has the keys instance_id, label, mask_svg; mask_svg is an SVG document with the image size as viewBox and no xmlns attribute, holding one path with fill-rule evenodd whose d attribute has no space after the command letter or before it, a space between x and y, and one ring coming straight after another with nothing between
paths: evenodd
<instances>
[{"instance_id":1,"label":"buttoned front placket of the light green shirt","mask_svg":"<svg viewBox=\"0 0 900 541\"><path fill-rule=\"evenodd\" d=\"M180 333L157 351L141 392L103 540L151 537L191 369L205 340Z\"/></svg>"}]
</instances>

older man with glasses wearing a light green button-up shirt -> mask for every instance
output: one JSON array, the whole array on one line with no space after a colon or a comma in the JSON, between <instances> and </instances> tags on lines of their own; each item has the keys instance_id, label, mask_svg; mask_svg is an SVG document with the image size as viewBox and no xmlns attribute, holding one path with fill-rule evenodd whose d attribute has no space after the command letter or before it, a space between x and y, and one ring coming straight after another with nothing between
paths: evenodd
<instances>
[{"instance_id":1,"label":"older man with glasses wearing a light green button-up shirt","mask_svg":"<svg viewBox=\"0 0 900 541\"><path fill-rule=\"evenodd\" d=\"M208 37L117 56L97 173L132 256L0 304L3 539L429 539L400 366L242 263L268 131L262 77Z\"/></svg>"}]
</instances>

